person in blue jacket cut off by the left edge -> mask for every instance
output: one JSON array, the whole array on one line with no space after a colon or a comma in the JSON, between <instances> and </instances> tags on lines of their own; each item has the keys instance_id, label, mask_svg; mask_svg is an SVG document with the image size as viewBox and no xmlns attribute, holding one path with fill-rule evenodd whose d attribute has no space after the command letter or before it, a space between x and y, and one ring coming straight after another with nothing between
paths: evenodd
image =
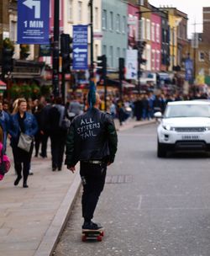
<instances>
[{"instance_id":1,"label":"person in blue jacket cut off by the left edge","mask_svg":"<svg viewBox=\"0 0 210 256\"><path fill-rule=\"evenodd\" d=\"M0 100L0 125L3 129L3 152L6 152L7 149L9 119L8 113L3 110L3 102Z\"/></svg>"}]
</instances>

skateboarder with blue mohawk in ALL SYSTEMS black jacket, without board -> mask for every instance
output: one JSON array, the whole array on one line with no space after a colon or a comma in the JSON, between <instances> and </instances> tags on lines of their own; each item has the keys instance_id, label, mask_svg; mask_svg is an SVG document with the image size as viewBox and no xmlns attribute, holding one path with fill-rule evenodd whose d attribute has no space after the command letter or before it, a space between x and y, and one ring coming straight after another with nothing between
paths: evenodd
<instances>
[{"instance_id":1,"label":"skateboarder with blue mohawk in ALL SYSTEMS black jacket, without board","mask_svg":"<svg viewBox=\"0 0 210 256\"><path fill-rule=\"evenodd\" d=\"M74 173L80 161L82 229L97 230L102 226L92 222L92 218L105 184L107 166L113 163L117 152L118 136L112 115L99 110L101 100L91 83L87 96L89 109L72 120L67 135L65 163Z\"/></svg>"}]
</instances>

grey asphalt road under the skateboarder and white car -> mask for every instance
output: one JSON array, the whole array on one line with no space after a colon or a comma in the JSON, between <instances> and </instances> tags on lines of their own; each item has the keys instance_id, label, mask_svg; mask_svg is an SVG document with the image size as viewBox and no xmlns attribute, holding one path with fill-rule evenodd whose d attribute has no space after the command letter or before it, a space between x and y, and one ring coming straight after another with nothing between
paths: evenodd
<instances>
[{"instance_id":1,"label":"grey asphalt road under the skateboarder and white car","mask_svg":"<svg viewBox=\"0 0 210 256\"><path fill-rule=\"evenodd\" d=\"M209 256L210 157L156 157L155 125L118 134L116 162L95 220L101 243L81 242L81 198L60 237L55 256Z\"/></svg>"}]
</instances>

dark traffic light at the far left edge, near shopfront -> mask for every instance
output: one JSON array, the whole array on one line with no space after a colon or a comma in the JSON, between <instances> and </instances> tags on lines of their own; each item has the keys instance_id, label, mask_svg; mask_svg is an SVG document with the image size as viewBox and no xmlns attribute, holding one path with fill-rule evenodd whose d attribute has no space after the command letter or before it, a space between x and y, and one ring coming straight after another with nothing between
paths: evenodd
<instances>
[{"instance_id":1,"label":"dark traffic light at the far left edge, near shopfront","mask_svg":"<svg viewBox=\"0 0 210 256\"><path fill-rule=\"evenodd\" d=\"M13 71L13 49L3 46L3 74Z\"/></svg>"}]
</instances>

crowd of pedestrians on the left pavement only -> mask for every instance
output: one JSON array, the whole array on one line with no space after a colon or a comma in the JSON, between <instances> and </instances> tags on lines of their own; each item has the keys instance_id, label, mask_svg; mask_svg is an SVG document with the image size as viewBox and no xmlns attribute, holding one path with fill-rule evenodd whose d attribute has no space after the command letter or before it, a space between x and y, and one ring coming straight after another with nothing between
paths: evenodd
<instances>
[{"instance_id":1,"label":"crowd of pedestrians on the left pavement only","mask_svg":"<svg viewBox=\"0 0 210 256\"><path fill-rule=\"evenodd\" d=\"M31 158L50 157L47 155L47 144L50 138L52 171L61 171L66 145L68 126L74 116L83 112L82 104L76 99L71 104L63 104L56 99L15 99L12 103L0 101L0 142L3 152L7 144L12 147L14 170L17 174L14 185L17 186L23 176L23 187L28 188L27 180L31 167ZM24 134L24 137L22 137ZM27 142L28 138L32 138ZM21 138L20 138L21 137ZM20 147L20 139L27 147Z\"/></svg>"}]
</instances>

